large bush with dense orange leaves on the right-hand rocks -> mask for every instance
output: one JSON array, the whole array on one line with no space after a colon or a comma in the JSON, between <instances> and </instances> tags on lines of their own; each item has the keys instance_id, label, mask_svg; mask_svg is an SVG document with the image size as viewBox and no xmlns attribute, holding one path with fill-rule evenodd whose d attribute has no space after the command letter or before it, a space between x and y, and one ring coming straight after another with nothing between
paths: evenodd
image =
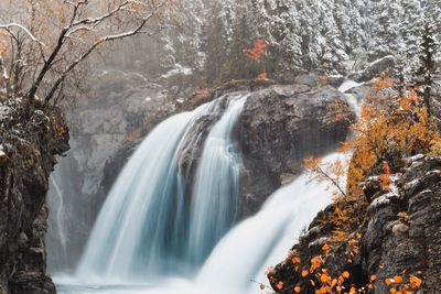
<instances>
[{"instance_id":1,"label":"large bush with dense orange leaves on the right-hand rocks","mask_svg":"<svg viewBox=\"0 0 441 294\"><path fill-rule=\"evenodd\" d=\"M342 145L343 151L354 151L347 182L347 193L352 196L362 193L359 183L375 166L383 165L387 175L396 172L397 160L437 152L440 145L440 130L422 98L415 90L398 96L392 87L390 79L376 79L374 95L365 98L362 113L352 128L354 137ZM385 179L383 176L381 182L387 186Z\"/></svg>"}]
</instances>

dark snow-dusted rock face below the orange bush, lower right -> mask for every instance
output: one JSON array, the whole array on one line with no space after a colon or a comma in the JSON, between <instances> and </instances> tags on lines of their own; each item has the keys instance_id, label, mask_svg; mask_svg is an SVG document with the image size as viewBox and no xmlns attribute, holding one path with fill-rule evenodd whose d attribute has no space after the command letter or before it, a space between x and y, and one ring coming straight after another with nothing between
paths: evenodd
<instances>
[{"instance_id":1,"label":"dark snow-dusted rock face below the orange bush, lower right","mask_svg":"<svg viewBox=\"0 0 441 294\"><path fill-rule=\"evenodd\" d=\"M391 192L384 190L377 177L364 185L368 210L366 220L356 230L362 233L359 252L347 263L345 246L331 251L326 266L332 273L351 273L351 283L366 285L377 276L374 293L389 293L386 279L399 274L405 281L415 274L423 280L418 293L439 293L441 277L441 157L415 156L402 174L395 175ZM294 246L302 259L310 260L320 253L321 240L330 228L321 220L333 211L326 208L311 224L310 230ZM355 232L354 232L355 233ZM402 272L406 271L405 274ZM302 283L293 274L292 262L284 261L270 274L271 281L282 281L287 287L275 290L291 293L289 285Z\"/></svg>"}]
</instances>

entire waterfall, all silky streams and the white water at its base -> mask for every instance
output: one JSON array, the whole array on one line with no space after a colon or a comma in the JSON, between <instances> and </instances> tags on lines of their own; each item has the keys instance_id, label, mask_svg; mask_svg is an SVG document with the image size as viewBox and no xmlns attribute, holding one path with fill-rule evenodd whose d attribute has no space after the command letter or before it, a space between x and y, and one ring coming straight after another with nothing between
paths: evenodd
<instances>
[{"instance_id":1,"label":"entire waterfall, all silky streams and the white water at its base","mask_svg":"<svg viewBox=\"0 0 441 294\"><path fill-rule=\"evenodd\" d=\"M197 119L218 105L178 115L153 130L110 192L76 277L55 279L60 294L259 293L251 281L266 283L266 268L288 255L302 230L332 203L333 192L304 173L232 229L240 168L233 130L246 99L227 98L205 140L190 197L178 155ZM348 156L333 153L322 164Z\"/></svg>"}]
</instances>

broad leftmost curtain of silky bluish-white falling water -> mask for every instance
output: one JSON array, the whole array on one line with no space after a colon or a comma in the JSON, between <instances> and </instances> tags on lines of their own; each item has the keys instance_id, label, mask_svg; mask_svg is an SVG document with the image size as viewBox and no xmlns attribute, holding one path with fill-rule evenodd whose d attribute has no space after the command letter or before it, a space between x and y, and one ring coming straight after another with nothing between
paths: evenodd
<instances>
[{"instance_id":1,"label":"broad leftmost curtain of silky bluish-white falling water","mask_svg":"<svg viewBox=\"0 0 441 294\"><path fill-rule=\"evenodd\" d=\"M185 112L161 123L133 154L99 213L79 279L130 281L137 272L179 262L173 240L183 230L185 211L175 157L192 117Z\"/></svg>"}]
</instances>

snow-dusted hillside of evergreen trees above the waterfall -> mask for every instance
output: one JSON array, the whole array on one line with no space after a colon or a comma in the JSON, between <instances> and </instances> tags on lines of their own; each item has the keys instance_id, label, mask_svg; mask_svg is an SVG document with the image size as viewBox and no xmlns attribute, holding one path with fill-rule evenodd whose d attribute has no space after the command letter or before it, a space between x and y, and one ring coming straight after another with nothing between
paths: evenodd
<instances>
[{"instance_id":1,"label":"snow-dusted hillside of evergreen trees above the waterfall","mask_svg":"<svg viewBox=\"0 0 441 294\"><path fill-rule=\"evenodd\" d=\"M162 67L203 74L208 84L255 77L279 80L304 70L348 74L386 55L410 69L426 20L441 15L439 0L182 0L162 32ZM176 30L179 28L179 30ZM440 28L437 29L438 34ZM260 65L244 50L268 43Z\"/></svg>"}]
</instances>

